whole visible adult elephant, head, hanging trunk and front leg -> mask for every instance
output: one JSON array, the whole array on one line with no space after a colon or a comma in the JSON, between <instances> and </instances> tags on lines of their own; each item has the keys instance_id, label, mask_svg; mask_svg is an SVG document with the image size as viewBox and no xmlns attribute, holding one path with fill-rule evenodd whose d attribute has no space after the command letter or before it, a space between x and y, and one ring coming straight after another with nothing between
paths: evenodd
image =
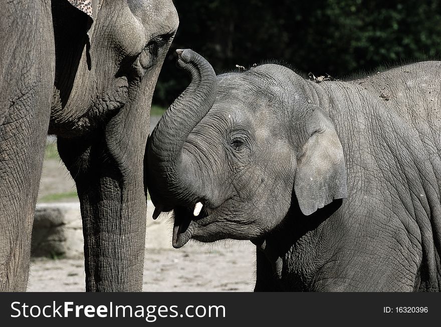
<instances>
[{"instance_id":1,"label":"whole visible adult elephant, head, hanging trunk and front leg","mask_svg":"<svg viewBox=\"0 0 441 327\"><path fill-rule=\"evenodd\" d=\"M86 289L142 289L149 107L177 13L92 0L92 19L71 2L0 4L0 290L26 290L48 133L81 201Z\"/></svg>"}]
</instances>

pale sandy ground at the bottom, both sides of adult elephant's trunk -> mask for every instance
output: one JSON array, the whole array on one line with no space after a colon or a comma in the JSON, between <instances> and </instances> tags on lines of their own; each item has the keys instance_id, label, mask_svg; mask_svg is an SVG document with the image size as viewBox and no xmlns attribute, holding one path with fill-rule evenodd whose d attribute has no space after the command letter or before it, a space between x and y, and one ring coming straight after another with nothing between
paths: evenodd
<instances>
[{"instance_id":1,"label":"pale sandy ground at the bottom, both sides of adult elephant's trunk","mask_svg":"<svg viewBox=\"0 0 441 327\"><path fill-rule=\"evenodd\" d=\"M143 290L252 291L254 261L251 243L150 249L144 260ZM84 291L83 260L34 258L28 290Z\"/></svg>"}]
</instances>

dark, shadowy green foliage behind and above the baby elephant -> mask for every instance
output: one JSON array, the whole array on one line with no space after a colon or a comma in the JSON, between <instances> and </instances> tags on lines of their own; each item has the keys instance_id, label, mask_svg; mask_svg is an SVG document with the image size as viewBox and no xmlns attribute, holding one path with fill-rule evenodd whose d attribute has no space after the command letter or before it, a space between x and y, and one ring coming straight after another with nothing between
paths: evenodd
<instances>
[{"instance_id":1,"label":"dark, shadowy green foliage behind and above the baby elephant","mask_svg":"<svg viewBox=\"0 0 441 327\"><path fill-rule=\"evenodd\" d=\"M276 59L304 73L344 78L439 58L441 0L174 0L179 28L153 103L185 88L175 49L202 54L216 73Z\"/></svg>"}]
</instances>

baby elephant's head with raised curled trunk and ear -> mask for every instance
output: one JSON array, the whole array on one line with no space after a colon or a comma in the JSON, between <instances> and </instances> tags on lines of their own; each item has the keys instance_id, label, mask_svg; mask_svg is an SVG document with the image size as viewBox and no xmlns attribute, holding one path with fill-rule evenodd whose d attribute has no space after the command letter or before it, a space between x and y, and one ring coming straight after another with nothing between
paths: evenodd
<instances>
[{"instance_id":1,"label":"baby elephant's head with raised curled trunk and ear","mask_svg":"<svg viewBox=\"0 0 441 327\"><path fill-rule=\"evenodd\" d=\"M173 246L190 238L257 240L289 210L309 215L346 197L335 126L294 71L265 64L216 76L177 50L191 83L150 135L146 184L156 209L174 211Z\"/></svg>"}]
</instances>

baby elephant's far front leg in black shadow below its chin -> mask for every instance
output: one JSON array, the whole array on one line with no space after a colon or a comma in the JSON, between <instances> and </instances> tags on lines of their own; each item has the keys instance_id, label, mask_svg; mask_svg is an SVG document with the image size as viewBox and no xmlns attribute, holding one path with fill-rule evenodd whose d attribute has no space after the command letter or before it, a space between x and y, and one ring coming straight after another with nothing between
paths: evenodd
<instances>
[{"instance_id":1,"label":"baby elephant's far front leg in black shadow below its chin","mask_svg":"<svg viewBox=\"0 0 441 327\"><path fill-rule=\"evenodd\" d=\"M256 286L255 292L282 291L279 281L274 276L274 268L266 254L256 247Z\"/></svg>"}]
</instances>

